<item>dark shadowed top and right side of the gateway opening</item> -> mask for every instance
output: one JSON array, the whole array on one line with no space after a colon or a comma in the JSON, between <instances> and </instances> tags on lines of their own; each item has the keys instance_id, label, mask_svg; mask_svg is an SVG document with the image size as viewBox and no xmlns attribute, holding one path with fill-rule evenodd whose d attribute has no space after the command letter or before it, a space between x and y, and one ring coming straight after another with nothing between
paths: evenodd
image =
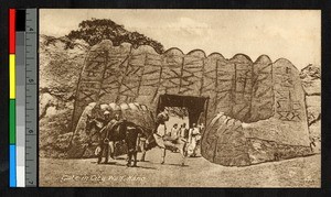
<instances>
[{"instance_id":1,"label":"dark shadowed top and right side of the gateway opening","mask_svg":"<svg viewBox=\"0 0 331 197\"><path fill-rule=\"evenodd\" d=\"M207 106L207 97L160 95L157 114L159 114L159 112L162 111L164 107L186 108L189 112L190 125L192 125L192 123L204 123L204 125L206 125Z\"/></svg>"}]
</instances>

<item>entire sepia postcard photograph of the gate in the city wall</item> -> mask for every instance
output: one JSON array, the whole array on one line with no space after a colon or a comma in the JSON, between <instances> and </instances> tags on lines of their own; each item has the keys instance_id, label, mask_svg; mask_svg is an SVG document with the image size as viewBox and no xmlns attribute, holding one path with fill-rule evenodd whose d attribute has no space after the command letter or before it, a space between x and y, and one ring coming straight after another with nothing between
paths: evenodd
<instances>
[{"instance_id":1,"label":"entire sepia postcard photograph of the gate in the city wall","mask_svg":"<svg viewBox=\"0 0 331 197\"><path fill-rule=\"evenodd\" d=\"M321 187L321 11L40 9L41 187Z\"/></svg>"}]
</instances>

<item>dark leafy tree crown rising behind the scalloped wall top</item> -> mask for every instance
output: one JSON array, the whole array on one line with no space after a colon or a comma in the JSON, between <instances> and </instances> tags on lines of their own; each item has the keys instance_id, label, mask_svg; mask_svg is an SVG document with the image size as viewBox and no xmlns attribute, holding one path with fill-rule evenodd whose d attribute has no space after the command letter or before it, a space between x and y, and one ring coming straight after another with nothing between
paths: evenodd
<instances>
[{"instance_id":1,"label":"dark leafy tree crown rising behind the scalloped wall top","mask_svg":"<svg viewBox=\"0 0 331 197\"><path fill-rule=\"evenodd\" d=\"M164 52L164 47L161 43L141 33L127 31L124 25L119 25L110 19L85 20L79 23L78 28L78 30L71 31L66 37L72 41L84 40L90 46L103 40L110 40L115 46L127 42L132 44L135 48L140 45L150 45L158 53Z\"/></svg>"}]
</instances>

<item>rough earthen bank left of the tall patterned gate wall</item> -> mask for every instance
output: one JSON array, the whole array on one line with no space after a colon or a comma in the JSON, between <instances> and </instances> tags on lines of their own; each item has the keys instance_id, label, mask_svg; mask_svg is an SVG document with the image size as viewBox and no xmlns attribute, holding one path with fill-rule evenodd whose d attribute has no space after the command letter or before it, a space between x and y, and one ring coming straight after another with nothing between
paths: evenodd
<instances>
[{"instance_id":1,"label":"rough earthen bank left of the tall patterned gate wall","mask_svg":"<svg viewBox=\"0 0 331 197\"><path fill-rule=\"evenodd\" d=\"M40 156L64 157L72 138L71 120L74 110L79 73L88 45L40 35Z\"/></svg>"}]
</instances>

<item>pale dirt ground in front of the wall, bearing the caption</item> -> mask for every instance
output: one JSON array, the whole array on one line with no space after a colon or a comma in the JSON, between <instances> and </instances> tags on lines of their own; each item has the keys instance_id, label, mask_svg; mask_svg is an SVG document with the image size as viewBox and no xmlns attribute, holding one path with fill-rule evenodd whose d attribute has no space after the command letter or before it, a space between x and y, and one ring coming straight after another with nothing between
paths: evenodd
<instances>
[{"instance_id":1,"label":"pale dirt ground in front of the wall, bearing the caption","mask_svg":"<svg viewBox=\"0 0 331 197\"><path fill-rule=\"evenodd\" d=\"M140 154L138 155L140 158ZM320 187L321 156L313 155L247 167L225 167L203 157L153 149L147 162L127 167L125 156L97 164L96 158L40 158L40 186L47 187Z\"/></svg>"}]
</instances>

